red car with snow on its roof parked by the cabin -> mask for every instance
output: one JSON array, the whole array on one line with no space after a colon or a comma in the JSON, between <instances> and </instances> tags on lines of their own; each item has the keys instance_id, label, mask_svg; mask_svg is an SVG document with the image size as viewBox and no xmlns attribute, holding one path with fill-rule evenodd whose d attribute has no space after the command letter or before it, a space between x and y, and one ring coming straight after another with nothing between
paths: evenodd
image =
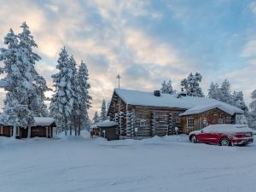
<instances>
[{"instance_id":1,"label":"red car with snow on its roof parked by the cabin","mask_svg":"<svg viewBox=\"0 0 256 192\"><path fill-rule=\"evenodd\" d=\"M247 125L208 125L200 131L189 133L192 143L210 143L223 146L253 143L253 131Z\"/></svg>"}]
</instances>

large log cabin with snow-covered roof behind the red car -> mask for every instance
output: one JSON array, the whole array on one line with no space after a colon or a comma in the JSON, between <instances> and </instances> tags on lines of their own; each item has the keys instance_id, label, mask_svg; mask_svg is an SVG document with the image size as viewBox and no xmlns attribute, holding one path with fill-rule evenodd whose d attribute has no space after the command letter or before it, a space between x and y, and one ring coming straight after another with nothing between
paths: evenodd
<instances>
[{"instance_id":1,"label":"large log cabin with snow-covered roof behind the red car","mask_svg":"<svg viewBox=\"0 0 256 192\"><path fill-rule=\"evenodd\" d=\"M243 111L224 102L196 96L162 94L159 90L114 89L108 108L119 139L189 134L211 124L235 123Z\"/></svg>"}]
</instances>

